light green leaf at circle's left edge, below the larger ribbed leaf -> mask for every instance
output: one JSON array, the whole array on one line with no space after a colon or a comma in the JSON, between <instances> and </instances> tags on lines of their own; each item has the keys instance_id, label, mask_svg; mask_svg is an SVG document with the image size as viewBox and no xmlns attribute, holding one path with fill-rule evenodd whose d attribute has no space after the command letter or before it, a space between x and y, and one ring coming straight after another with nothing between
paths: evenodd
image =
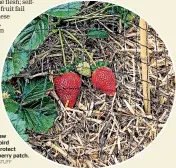
<instances>
[{"instance_id":1,"label":"light green leaf at circle's left edge, below the larger ribbed leaf","mask_svg":"<svg viewBox=\"0 0 176 168\"><path fill-rule=\"evenodd\" d=\"M16 51L8 55L5 60L2 80L7 81L14 75L18 75L24 68L27 67L29 55L25 51Z\"/></svg>"}]
</instances>

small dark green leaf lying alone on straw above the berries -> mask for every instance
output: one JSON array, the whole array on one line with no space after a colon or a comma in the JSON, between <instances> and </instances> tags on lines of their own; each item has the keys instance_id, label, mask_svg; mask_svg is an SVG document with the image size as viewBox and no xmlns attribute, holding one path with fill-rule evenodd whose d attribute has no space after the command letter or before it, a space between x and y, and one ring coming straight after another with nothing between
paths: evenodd
<instances>
[{"instance_id":1,"label":"small dark green leaf lying alone on straw above the berries","mask_svg":"<svg viewBox=\"0 0 176 168\"><path fill-rule=\"evenodd\" d=\"M102 38L108 38L108 37L109 37L109 34L106 30L99 30L99 29L93 28L88 32L88 38L102 39Z\"/></svg>"}]
</instances>

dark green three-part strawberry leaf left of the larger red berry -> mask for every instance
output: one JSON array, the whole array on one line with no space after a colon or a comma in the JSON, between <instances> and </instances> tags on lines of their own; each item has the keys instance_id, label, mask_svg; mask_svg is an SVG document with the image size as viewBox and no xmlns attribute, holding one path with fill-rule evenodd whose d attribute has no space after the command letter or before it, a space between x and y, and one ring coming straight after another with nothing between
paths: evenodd
<instances>
[{"instance_id":1,"label":"dark green three-part strawberry leaf left of the larger red berry","mask_svg":"<svg viewBox=\"0 0 176 168\"><path fill-rule=\"evenodd\" d=\"M23 93L20 104L16 99L5 99L6 111L18 114L18 118L25 122L24 130L47 132L56 117L56 104L46 95L46 90L53 87L53 84L47 78L40 78L30 80L27 85L19 80L18 85ZM10 92L14 92L7 82L3 83L2 88L10 88Z\"/></svg>"}]
</instances>

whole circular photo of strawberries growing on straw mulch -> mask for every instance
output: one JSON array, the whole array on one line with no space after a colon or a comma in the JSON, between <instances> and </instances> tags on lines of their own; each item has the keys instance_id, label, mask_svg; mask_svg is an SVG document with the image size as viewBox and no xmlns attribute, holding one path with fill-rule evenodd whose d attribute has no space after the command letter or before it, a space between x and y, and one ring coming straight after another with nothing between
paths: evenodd
<instances>
[{"instance_id":1,"label":"whole circular photo of strawberries growing on straw mulch","mask_svg":"<svg viewBox=\"0 0 176 168\"><path fill-rule=\"evenodd\" d=\"M140 16L79 1L23 28L1 86L7 115L33 150L62 165L99 168L130 159L157 137L172 109L175 73Z\"/></svg>"}]
</instances>

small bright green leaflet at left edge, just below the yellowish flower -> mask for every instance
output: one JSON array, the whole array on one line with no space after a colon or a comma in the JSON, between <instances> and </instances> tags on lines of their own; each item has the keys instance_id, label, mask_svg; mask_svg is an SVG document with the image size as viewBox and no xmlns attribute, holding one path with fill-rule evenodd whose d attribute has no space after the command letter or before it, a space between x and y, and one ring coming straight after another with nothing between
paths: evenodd
<instances>
[{"instance_id":1,"label":"small bright green leaflet at left edge, just below the yellowish flower","mask_svg":"<svg viewBox=\"0 0 176 168\"><path fill-rule=\"evenodd\" d=\"M13 99L9 99L9 98L4 100L4 105L5 105L6 111L8 112L16 113L19 108L19 104Z\"/></svg>"}]
</instances>

